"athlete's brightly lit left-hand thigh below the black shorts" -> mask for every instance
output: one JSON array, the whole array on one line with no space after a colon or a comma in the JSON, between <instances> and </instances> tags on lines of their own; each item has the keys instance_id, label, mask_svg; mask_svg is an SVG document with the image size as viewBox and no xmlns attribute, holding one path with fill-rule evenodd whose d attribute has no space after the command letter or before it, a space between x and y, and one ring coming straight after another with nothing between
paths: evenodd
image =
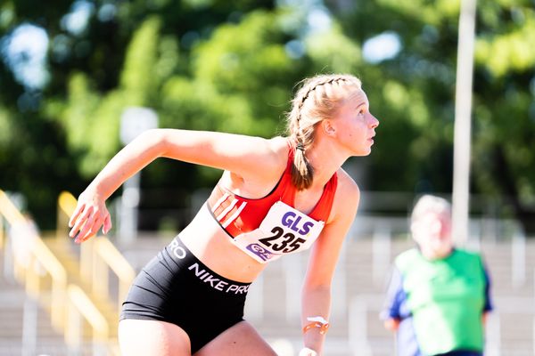
<instances>
[{"instance_id":1,"label":"athlete's brightly lit left-hand thigh below the black shorts","mask_svg":"<svg viewBox=\"0 0 535 356\"><path fill-rule=\"evenodd\" d=\"M165 321L126 319L119 322L119 347L124 356L190 355L189 337Z\"/></svg>"}]
</instances>

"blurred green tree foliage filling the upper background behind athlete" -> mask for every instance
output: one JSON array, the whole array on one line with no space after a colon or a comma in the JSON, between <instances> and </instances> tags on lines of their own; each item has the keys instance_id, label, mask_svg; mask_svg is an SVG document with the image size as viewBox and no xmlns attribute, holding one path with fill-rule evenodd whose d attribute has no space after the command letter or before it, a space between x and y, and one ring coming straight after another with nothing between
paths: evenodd
<instances>
[{"instance_id":1,"label":"blurred green tree foliage filling the upper background behind athlete","mask_svg":"<svg viewBox=\"0 0 535 356\"><path fill-rule=\"evenodd\" d=\"M81 5L86 24L71 28L83 22L69 21ZM459 8L458 0L6 0L0 188L21 191L51 228L59 192L80 193L120 149L125 108L155 109L161 127L270 137L284 134L300 79L350 72L381 121L373 154L348 162L363 172L361 189L447 193ZM21 82L6 60L22 24L49 39L42 87ZM527 221L535 206L532 2L479 0L476 32L472 191L506 197L507 211ZM371 61L366 41L384 33L397 36L399 53ZM144 204L185 207L218 174L158 160L144 170L152 192Z\"/></svg>"}]
</instances>

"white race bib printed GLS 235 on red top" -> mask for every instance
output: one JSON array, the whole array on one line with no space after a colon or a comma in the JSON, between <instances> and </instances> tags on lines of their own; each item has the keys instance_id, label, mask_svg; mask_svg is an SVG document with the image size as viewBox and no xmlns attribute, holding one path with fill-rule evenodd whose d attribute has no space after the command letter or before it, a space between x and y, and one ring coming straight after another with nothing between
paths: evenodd
<instances>
[{"instance_id":1,"label":"white race bib printed GLS 235 on red top","mask_svg":"<svg viewBox=\"0 0 535 356\"><path fill-rule=\"evenodd\" d=\"M240 234L233 241L259 263L268 263L281 255L308 249L324 225L324 222L277 201L258 229Z\"/></svg>"}]
</instances>

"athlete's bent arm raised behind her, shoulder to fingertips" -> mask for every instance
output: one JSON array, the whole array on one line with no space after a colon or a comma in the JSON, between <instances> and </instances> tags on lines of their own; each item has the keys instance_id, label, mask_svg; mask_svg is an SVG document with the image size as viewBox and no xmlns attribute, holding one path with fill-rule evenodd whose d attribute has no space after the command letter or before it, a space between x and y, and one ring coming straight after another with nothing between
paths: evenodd
<instances>
[{"instance_id":1,"label":"athlete's bent arm raised behind her, shoulder to fingertips","mask_svg":"<svg viewBox=\"0 0 535 356\"><path fill-rule=\"evenodd\" d=\"M280 154L281 141L259 137L175 129L144 132L119 151L97 174L78 198L70 218L70 237L77 242L89 239L103 226L111 229L105 200L129 177L159 157L225 169L244 180L276 182L284 169L286 155Z\"/></svg>"}]
</instances>

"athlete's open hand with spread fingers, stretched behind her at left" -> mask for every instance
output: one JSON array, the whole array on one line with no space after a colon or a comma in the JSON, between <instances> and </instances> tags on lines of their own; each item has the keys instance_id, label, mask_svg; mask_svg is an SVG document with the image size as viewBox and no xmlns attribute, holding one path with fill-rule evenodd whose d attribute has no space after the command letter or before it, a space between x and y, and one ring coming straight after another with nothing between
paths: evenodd
<instances>
[{"instance_id":1,"label":"athlete's open hand with spread fingers, stretched behind her at left","mask_svg":"<svg viewBox=\"0 0 535 356\"><path fill-rule=\"evenodd\" d=\"M92 189L85 190L78 197L78 205L69 221L70 238L74 242L82 243L95 236L103 228L103 234L111 230L111 218L106 208L105 200Z\"/></svg>"}]
</instances>

